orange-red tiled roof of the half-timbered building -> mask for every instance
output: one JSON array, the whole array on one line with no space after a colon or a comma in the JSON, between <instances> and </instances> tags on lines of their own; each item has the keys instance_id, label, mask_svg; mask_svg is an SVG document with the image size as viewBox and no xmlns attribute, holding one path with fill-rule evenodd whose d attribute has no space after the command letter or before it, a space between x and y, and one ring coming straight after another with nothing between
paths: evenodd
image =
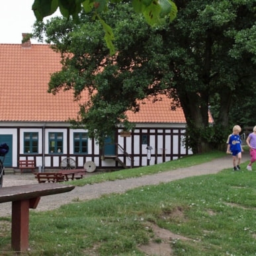
<instances>
[{"instance_id":1,"label":"orange-red tiled roof of the half-timbered building","mask_svg":"<svg viewBox=\"0 0 256 256\"><path fill-rule=\"evenodd\" d=\"M0 44L0 122L64 122L76 118L73 92L47 93L50 74L61 69L60 55L50 46ZM145 100L140 112L128 112L131 122L185 123L181 108L171 110L171 100Z\"/></svg>"}]
</instances>

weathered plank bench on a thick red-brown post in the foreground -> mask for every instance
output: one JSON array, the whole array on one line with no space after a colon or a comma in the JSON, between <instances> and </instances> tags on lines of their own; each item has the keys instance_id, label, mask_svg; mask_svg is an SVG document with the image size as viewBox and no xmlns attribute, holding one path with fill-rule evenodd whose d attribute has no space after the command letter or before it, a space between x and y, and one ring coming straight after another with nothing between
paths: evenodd
<instances>
[{"instance_id":1,"label":"weathered plank bench on a thick red-brown post in the foreground","mask_svg":"<svg viewBox=\"0 0 256 256\"><path fill-rule=\"evenodd\" d=\"M40 197L68 192L74 188L72 185L46 183L0 189L0 203L12 202L11 246L15 251L28 249L29 209L38 206Z\"/></svg>"}]
</instances>

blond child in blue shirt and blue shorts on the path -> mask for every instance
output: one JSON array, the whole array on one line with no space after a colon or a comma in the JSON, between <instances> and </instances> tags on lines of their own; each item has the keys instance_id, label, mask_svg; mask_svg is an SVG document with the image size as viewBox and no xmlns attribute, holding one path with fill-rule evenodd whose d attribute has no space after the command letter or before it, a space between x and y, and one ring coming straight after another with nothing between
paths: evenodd
<instances>
[{"instance_id":1,"label":"blond child in blue shirt and blue shorts on the path","mask_svg":"<svg viewBox=\"0 0 256 256\"><path fill-rule=\"evenodd\" d=\"M241 132L241 127L239 125L235 125L233 127L233 133L228 136L227 144L227 153L232 153L233 155L233 165L234 171L239 171L240 163L241 163L241 152L243 152L243 148L241 147L241 138L239 133ZM237 160L237 164L235 163Z\"/></svg>"}]
</instances>

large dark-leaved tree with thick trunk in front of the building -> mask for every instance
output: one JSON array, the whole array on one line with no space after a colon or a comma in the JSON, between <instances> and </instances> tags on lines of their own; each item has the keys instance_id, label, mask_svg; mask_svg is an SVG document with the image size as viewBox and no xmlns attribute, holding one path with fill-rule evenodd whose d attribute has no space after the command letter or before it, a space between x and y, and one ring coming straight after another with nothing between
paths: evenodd
<instances>
[{"instance_id":1,"label":"large dark-leaved tree with thick trunk in front of the building","mask_svg":"<svg viewBox=\"0 0 256 256\"><path fill-rule=\"evenodd\" d=\"M175 3L177 19L153 27L129 3L109 5L103 19L116 35L114 56L92 14L83 13L75 24L60 18L37 24L34 36L45 32L63 57L49 91L91 94L79 122L99 142L121 123L132 127L125 113L140 109L138 99L165 93L173 99L171 109L184 110L187 145L194 153L206 151L224 142L230 108L255 88L254 1ZM208 122L210 105L214 126Z\"/></svg>"}]
</instances>

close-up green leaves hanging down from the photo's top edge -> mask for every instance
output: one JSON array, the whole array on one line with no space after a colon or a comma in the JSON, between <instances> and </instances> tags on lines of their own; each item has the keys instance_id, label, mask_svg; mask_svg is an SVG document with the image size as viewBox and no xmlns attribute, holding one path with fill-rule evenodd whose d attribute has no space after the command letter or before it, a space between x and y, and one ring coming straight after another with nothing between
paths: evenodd
<instances>
[{"instance_id":1,"label":"close-up green leaves hanging down from the photo's top edge","mask_svg":"<svg viewBox=\"0 0 256 256\"><path fill-rule=\"evenodd\" d=\"M34 0L32 10L37 21L42 21L44 17L52 15L59 8L60 13L73 21L79 21L81 11L85 13L93 13L92 19L98 19L105 30L105 42L110 49L110 54L115 53L114 34L111 26L109 26L101 17L101 13L108 10L110 4L126 3L127 0ZM136 13L142 13L146 22L153 25L163 24L169 19L173 21L177 15L177 7L171 0L132 0L132 7Z\"/></svg>"}]
</instances>

